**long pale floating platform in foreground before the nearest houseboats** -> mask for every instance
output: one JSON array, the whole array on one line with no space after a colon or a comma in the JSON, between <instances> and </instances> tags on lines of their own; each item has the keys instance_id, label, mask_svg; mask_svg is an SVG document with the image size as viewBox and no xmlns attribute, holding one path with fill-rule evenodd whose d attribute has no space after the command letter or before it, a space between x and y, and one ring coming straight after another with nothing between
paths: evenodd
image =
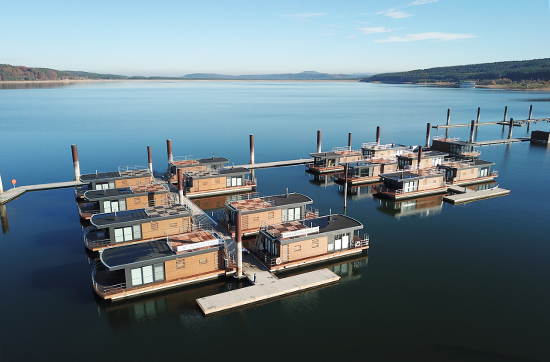
<instances>
[{"instance_id":1,"label":"long pale floating platform in foreground before the nearest houseboats","mask_svg":"<svg viewBox=\"0 0 550 362\"><path fill-rule=\"evenodd\" d=\"M340 276L329 269L315 270L284 279L271 279L229 292L197 299L197 304L205 315L228 311L291 293L336 283Z\"/></svg>"}]
</instances>

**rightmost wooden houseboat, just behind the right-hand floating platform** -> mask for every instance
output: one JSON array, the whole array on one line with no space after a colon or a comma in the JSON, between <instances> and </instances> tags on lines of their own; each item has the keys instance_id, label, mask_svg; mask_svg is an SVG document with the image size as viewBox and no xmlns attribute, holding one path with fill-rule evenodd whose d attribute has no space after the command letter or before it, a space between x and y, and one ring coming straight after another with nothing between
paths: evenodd
<instances>
[{"instance_id":1,"label":"rightmost wooden houseboat, just behind the right-hand floating platform","mask_svg":"<svg viewBox=\"0 0 550 362\"><path fill-rule=\"evenodd\" d=\"M447 183L461 186L493 181L498 172L491 171L491 166L494 166L493 162L473 159L444 162L438 168L444 171Z\"/></svg>"}]
</instances>

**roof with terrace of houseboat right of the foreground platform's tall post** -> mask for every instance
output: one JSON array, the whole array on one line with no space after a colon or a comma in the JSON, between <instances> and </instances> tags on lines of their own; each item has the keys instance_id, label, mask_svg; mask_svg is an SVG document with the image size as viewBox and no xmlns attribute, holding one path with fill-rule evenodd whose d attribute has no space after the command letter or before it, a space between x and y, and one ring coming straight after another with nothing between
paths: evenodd
<instances>
[{"instance_id":1,"label":"roof with terrace of houseboat right of the foreground platform's tall post","mask_svg":"<svg viewBox=\"0 0 550 362\"><path fill-rule=\"evenodd\" d=\"M311 232L305 234L307 229L319 228L318 232ZM307 235L318 235L331 231L338 231L344 229L361 229L363 224L359 221L345 215L327 215L321 216L315 219L308 219L303 221L289 221L282 224L270 225L267 227L267 232L279 239L282 244L295 241L297 237L304 237ZM300 233L300 230L304 230L304 234ZM296 235L297 234L297 235Z\"/></svg>"}]
</instances>

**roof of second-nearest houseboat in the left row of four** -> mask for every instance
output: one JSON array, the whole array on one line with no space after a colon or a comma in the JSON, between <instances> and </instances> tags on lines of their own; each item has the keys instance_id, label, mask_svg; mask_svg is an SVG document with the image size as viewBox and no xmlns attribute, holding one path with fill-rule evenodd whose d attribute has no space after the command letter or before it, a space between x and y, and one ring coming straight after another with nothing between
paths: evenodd
<instances>
[{"instance_id":1,"label":"roof of second-nearest houseboat in the left row of four","mask_svg":"<svg viewBox=\"0 0 550 362\"><path fill-rule=\"evenodd\" d=\"M95 214L91 217L90 223L97 228L107 228L112 225L133 225L136 222L142 223L183 216L191 216L191 213L183 205L160 205L108 214Z\"/></svg>"}]
</instances>

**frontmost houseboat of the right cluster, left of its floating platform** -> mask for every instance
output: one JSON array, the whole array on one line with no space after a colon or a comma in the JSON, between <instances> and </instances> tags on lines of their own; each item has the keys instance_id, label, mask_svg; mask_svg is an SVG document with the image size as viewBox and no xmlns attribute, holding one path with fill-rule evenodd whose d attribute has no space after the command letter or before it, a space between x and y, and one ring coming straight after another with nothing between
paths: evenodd
<instances>
[{"instance_id":1,"label":"frontmost houseboat of the right cluster, left of its floating platform","mask_svg":"<svg viewBox=\"0 0 550 362\"><path fill-rule=\"evenodd\" d=\"M378 196L404 199L447 192L445 174L436 168L401 170L380 175L382 184L374 187Z\"/></svg>"}]
</instances>

